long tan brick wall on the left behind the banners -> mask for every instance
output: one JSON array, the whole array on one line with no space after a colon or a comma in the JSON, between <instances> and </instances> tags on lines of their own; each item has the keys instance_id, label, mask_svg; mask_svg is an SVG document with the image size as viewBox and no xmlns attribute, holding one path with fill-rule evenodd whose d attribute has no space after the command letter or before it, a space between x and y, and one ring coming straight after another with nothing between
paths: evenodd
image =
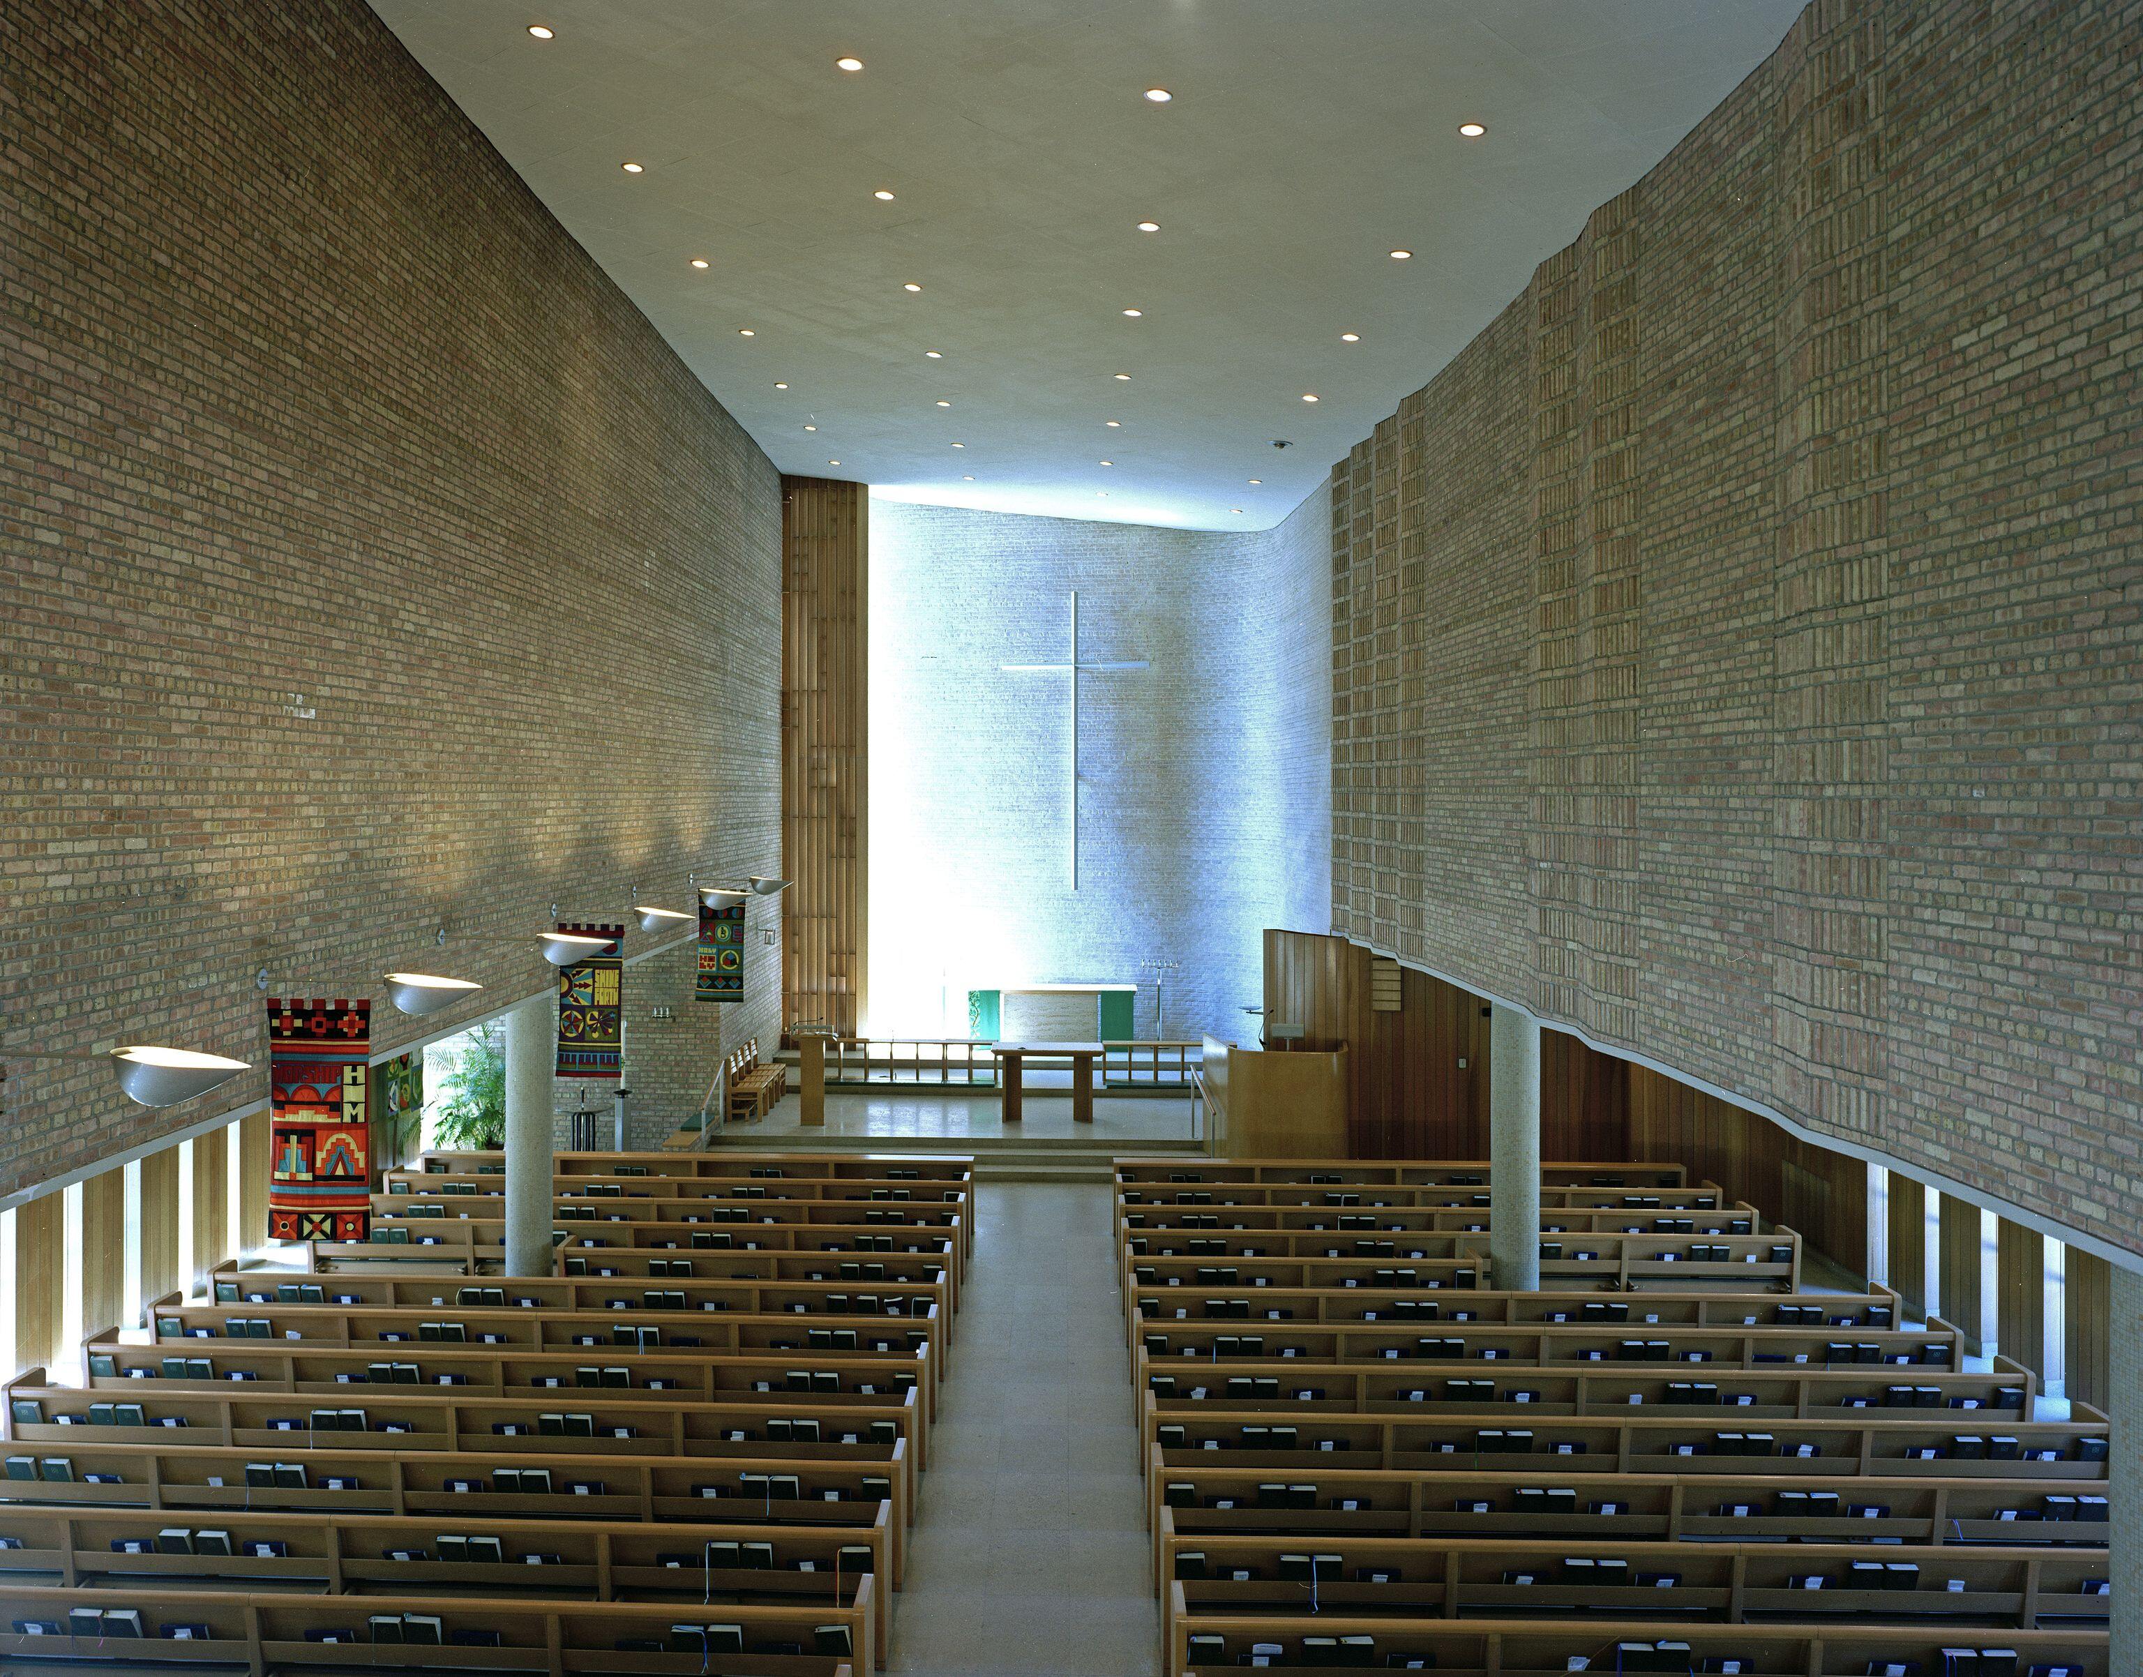
<instances>
[{"instance_id":1,"label":"long tan brick wall on the left behind the banners","mask_svg":"<svg viewBox=\"0 0 2143 1677\"><path fill-rule=\"evenodd\" d=\"M9 1043L264 1062L259 966L476 1017L551 902L771 872L774 467L373 13L0 0L0 88ZM771 1034L752 953L733 1011L630 968L643 1112ZM0 1191L266 1090L9 1071Z\"/></svg>"}]
</instances>

